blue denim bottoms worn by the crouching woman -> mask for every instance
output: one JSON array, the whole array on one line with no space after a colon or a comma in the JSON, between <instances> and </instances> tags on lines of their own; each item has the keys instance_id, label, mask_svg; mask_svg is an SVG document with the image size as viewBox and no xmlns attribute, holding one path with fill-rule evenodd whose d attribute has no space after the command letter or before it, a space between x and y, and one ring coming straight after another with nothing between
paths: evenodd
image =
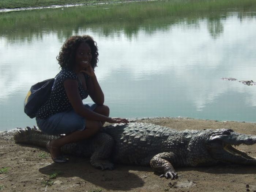
<instances>
[{"instance_id":1,"label":"blue denim bottoms worn by the crouching woman","mask_svg":"<svg viewBox=\"0 0 256 192\"><path fill-rule=\"evenodd\" d=\"M97 107L95 103L84 104L84 107L94 110ZM86 120L77 114L74 109L53 114L46 119L35 118L38 128L49 135L68 134L74 131L83 131L86 126Z\"/></svg>"}]
</instances>

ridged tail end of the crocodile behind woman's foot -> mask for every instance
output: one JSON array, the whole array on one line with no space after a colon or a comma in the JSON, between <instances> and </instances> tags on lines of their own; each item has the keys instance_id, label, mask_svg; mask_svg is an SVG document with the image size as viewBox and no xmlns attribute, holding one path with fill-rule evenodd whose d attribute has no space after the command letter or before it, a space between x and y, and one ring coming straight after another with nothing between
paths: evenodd
<instances>
[{"instance_id":1,"label":"ridged tail end of the crocodile behind woman's foot","mask_svg":"<svg viewBox=\"0 0 256 192\"><path fill-rule=\"evenodd\" d=\"M33 128L27 127L25 130L19 130L14 134L16 143L32 144L39 147L46 147L46 143L49 140L57 138L59 137L42 133L35 126Z\"/></svg>"}]
</instances>

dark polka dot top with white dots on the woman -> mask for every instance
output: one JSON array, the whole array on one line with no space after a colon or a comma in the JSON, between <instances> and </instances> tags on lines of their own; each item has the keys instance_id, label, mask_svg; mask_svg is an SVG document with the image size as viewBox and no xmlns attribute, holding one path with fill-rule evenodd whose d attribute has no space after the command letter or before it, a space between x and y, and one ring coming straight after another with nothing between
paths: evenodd
<instances>
[{"instance_id":1,"label":"dark polka dot top with white dots on the woman","mask_svg":"<svg viewBox=\"0 0 256 192\"><path fill-rule=\"evenodd\" d=\"M89 76L84 74L84 78L87 82ZM41 106L41 108L36 113L37 118L45 119L47 117L52 116L55 113L60 113L72 109L72 105L68 100L63 84L64 81L67 79L77 80L80 97L82 99L88 97L88 91L83 89L82 84L78 79L78 76L75 74L75 72L63 68L55 78L52 87L52 93L50 94L49 99L44 103L44 105Z\"/></svg>"}]
</instances>

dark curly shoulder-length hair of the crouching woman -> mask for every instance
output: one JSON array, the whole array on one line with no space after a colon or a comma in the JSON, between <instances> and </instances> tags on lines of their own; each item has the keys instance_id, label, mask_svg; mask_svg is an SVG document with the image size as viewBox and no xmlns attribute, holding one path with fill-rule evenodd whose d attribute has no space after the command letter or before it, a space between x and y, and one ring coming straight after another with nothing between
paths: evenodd
<instances>
[{"instance_id":1,"label":"dark curly shoulder-length hair of the crouching woman","mask_svg":"<svg viewBox=\"0 0 256 192\"><path fill-rule=\"evenodd\" d=\"M97 67L99 56L97 43L89 35L74 35L64 42L59 55L56 57L61 68L67 67L71 70L74 69L76 50L83 42L86 42L91 48L91 67L93 69Z\"/></svg>"}]
</instances>

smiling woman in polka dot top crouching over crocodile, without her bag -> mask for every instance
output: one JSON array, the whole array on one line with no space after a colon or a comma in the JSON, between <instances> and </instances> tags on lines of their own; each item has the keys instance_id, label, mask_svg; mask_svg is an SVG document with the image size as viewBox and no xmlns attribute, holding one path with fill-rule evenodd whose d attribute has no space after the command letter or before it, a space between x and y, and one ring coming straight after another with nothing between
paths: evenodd
<instances>
[{"instance_id":1,"label":"smiling woman in polka dot top crouching over crocodile, without her bag","mask_svg":"<svg viewBox=\"0 0 256 192\"><path fill-rule=\"evenodd\" d=\"M66 162L61 146L93 136L105 122L128 123L125 118L109 117L104 94L94 68L98 62L98 47L89 35L72 36L61 48L57 60L61 71L56 76L49 99L38 110L36 121L42 132L64 137L47 143L54 162ZM83 104L91 97L94 103Z\"/></svg>"}]
</instances>

